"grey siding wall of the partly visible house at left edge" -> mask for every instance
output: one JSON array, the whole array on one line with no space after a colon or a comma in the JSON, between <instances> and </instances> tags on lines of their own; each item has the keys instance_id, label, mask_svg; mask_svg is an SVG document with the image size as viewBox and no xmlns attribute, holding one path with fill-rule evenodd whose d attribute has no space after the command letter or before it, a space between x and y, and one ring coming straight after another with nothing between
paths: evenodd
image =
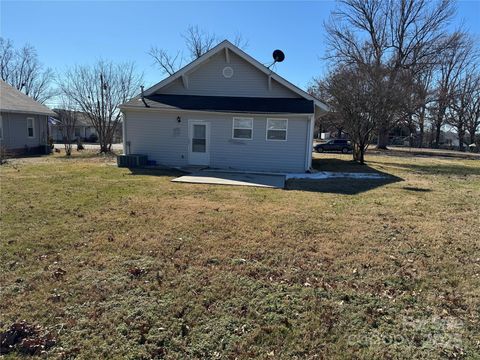
<instances>
[{"instance_id":1,"label":"grey siding wall of the partly visible house at left edge","mask_svg":"<svg viewBox=\"0 0 480 360\"><path fill-rule=\"evenodd\" d=\"M28 115L15 113L1 113L3 126L2 146L7 149L23 149L46 144L47 124L45 115ZM35 137L27 135L27 118L35 119Z\"/></svg>"}]
</instances>

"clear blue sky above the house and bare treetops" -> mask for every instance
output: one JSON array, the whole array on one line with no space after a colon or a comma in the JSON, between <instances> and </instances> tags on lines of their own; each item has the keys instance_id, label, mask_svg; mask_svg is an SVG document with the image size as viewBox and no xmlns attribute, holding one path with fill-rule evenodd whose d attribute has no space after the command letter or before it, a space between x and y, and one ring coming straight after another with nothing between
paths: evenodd
<instances>
[{"instance_id":1,"label":"clear blue sky above the house and bare treetops","mask_svg":"<svg viewBox=\"0 0 480 360\"><path fill-rule=\"evenodd\" d=\"M306 88L326 69L322 23L333 1L310 2L141 2L141 1L1 1L1 36L16 46L35 46L41 61L57 71L97 59L135 61L145 85L164 76L147 51L156 45L172 52L183 48L181 33L198 25L220 38L241 33L245 49L263 63L274 49L286 59L276 71ZM459 1L461 21L480 38L480 0Z\"/></svg>"}]
</instances>

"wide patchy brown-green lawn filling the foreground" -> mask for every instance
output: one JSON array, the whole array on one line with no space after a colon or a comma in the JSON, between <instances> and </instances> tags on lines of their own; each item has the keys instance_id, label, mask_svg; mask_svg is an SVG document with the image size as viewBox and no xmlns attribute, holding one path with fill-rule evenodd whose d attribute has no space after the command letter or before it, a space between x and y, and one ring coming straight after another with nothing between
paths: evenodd
<instances>
[{"instance_id":1,"label":"wide patchy brown-green lawn filling the foreground","mask_svg":"<svg viewBox=\"0 0 480 360\"><path fill-rule=\"evenodd\" d=\"M108 158L1 166L0 330L38 325L49 358L480 358L480 161L316 157L390 176L278 190Z\"/></svg>"}]
</instances>

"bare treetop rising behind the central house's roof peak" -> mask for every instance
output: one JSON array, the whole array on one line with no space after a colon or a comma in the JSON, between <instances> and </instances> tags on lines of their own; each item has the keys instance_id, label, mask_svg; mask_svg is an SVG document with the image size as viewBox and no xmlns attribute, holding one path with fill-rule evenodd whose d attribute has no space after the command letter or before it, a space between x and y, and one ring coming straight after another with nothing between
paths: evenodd
<instances>
[{"instance_id":1,"label":"bare treetop rising behind the central house's roof peak","mask_svg":"<svg viewBox=\"0 0 480 360\"><path fill-rule=\"evenodd\" d=\"M181 36L185 41L186 56L183 51L179 50L175 54L171 54L157 46L152 46L148 51L164 74L174 74L186 61L198 59L220 42L217 35L200 29L198 25L190 25ZM248 41L240 33L235 34L233 43L242 49L248 46Z\"/></svg>"}]
</instances>

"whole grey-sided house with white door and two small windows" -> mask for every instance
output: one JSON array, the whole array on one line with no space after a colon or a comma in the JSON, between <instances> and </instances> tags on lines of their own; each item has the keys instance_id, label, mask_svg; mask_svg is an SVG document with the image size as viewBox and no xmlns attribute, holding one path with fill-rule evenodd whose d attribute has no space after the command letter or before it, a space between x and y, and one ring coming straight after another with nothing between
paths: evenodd
<instances>
[{"instance_id":1,"label":"whole grey-sided house with white door and two small windows","mask_svg":"<svg viewBox=\"0 0 480 360\"><path fill-rule=\"evenodd\" d=\"M327 110L227 40L120 108L124 154L265 172L308 170Z\"/></svg>"}]
</instances>

